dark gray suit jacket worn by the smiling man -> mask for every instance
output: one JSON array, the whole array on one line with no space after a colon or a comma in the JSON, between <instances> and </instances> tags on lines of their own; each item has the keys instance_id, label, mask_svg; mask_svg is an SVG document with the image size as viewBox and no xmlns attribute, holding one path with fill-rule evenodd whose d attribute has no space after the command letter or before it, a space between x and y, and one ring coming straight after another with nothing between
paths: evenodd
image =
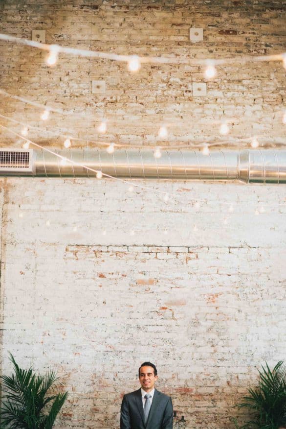
<instances>
[{"instance_id":1,"label":"dark gray suit jacket worn by the smiling man","mask_svg":"<svg viewBox=\"0 0 286 429\"><path fill-rule=\"evenodd\" d=\"M155 389L147 423L144 423L141 389L124 395L120 429L172 429L173 405L170 396Z\"/></svg>"}]
</instances>

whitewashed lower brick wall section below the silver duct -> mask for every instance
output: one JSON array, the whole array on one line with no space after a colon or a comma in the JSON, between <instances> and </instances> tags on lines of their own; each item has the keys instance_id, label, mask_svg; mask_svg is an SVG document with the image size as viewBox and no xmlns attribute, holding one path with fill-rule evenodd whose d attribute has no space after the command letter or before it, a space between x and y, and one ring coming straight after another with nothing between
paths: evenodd
<instances>
[{"instance_id":1,"label":"whitewashed lower brick wall section below the silver duct","mask_svg":"<svg viewBox=\"0 0 286 429\"><path fill-rule=\"evenodd\" d=\"M3 371L8 351L55 368L60 425L118 428L151 359L188 427L229 428L255 365L284 358L284 188L145 183L185 189L165 203L108 181L2 185Z\"/></svg>"}]
</instances>

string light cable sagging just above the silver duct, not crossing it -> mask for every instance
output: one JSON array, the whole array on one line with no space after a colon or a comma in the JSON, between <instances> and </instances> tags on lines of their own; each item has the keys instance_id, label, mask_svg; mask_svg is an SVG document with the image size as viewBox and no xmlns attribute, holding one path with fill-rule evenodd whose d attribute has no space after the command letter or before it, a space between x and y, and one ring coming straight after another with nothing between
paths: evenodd
<instances>
[{"instance_id":1,"label":"string light cable sagging just above the silver duct, not crossing it","mask_svg":"<svg viewBox=\"0 0 286 429\"><path fill-rule=\"evenodd\" d=\"M63 138L72 142L87 142L87 143L91 143L91 144L95 144L96 146L104 146L106 147L106 150L108 152L114 152L115 149L117 148L133 148L133 149L141 149L142 148L142 144L130 144L130 143L113 143L113 141L109 140L109 141L102 141L102 140L94 140L93 138L87 136L87 137L74 137L72 135L71 132L69 133L62 133L61 131L51 131L51 130L47 130L47 129L43 129L41 127L35 126L35 125L30 125L28 123L24 123L22 121L16 120L14 118L10 118L7 117L5 115L0 114L0 118L2 119L6 119L10 122L13 122L15 124L21 125L23 127L23 130L21 132L22 136L26 136L28 134L28 132L32 129L35 129L37 131L40 131L42 134L47 134L53 137L58 137L58 138ZM219 121L214 121L214 123L220 123ZM176 144L176 145L172 145L172 144L162 144L162 141L157 141L158 144L156 145L148 145L148 148L152 149L155 151L156 154L160 154L160 150L162 149L198 149L198 150L203 150L203 152L205 154L208 153L208 148L211 147L227 147L229 145L238 145L239 143L247 143L247 145L250 145L251 147L258 147L258 146L262 146L264 145L264 142L262 141L262 139L264 138L263 134L255 134L255 136L249 136L249 137L230 137L228 136L227 138L223 138L220 137L220 140L217 139L196 139L193 142L189 141L187 144ZM65 140L65 141L66 141ZM268 143L268 141L267 141ZM286 145L285 140L280 141L280 140L276 140L273 141L273 139L271 140L271 144L272 145ZM71 143L70 143L71 145ZM69 146L68 146L69 147ZM146 147L146 146L145 146ZM154 156L156 157L154 153Z\"/></svg>"}]
</instances>

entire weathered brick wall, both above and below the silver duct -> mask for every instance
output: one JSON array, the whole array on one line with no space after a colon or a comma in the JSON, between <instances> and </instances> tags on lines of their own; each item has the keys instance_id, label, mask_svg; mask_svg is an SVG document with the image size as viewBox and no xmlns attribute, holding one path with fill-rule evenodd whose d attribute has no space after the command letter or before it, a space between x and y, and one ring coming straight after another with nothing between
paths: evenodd
<instances>
[{"instance_id":1,"label":"entire weathered brick wall, both above and below the silver duct","mask_svg":"<svg viewBox=\"0 0 286 429\"><path fill-rule=\"evenodd\" d=\"M44 28L47 43L123 54L285 49L282 2L9 1L1 15L2 32L30 38ZM196 45L193 25L204 29ZM40 127L29 138L43 145L62 147L63 133L83 139L76 146L152 145L162 122L166 144L221 142L222 118L232 118L227 142L237 147L256 134L265 145L285 142L280 62L225 65L207 96L193 97L191 84L204 80L197 66L144 65L130 75L125 64L61 55L50 69L38 50L0 49L1 88L85 113L43 124L34 107L2 97L0 113ZM91 94L93 79L106 80L105 95ZM96 132L102 116L105 136ZM21 142L2 131L0 145ZM117 181L0 180L1 369L10 371L8 351L24 366L56 369L69 392L58 426L115 429L122 394L151 359L189 428L229 428L255 365L285 358L285 188L142 184L129 192Z\"/></svg>"}]
</instances>

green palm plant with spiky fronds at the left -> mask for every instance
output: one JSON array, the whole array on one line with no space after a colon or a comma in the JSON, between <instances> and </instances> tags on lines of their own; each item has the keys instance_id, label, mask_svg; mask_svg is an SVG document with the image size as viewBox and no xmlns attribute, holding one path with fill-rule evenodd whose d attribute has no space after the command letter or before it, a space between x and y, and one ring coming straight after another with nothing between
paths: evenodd
<instances>
[{"instance_id":1,"label":"green palm plant with spiky fronds at the left","mask_svg":"<svg viewBox=\"0 0 286 429\"><path fill-rule=\"evenodd\" d=\"M53 371L44 376L21 369L10 354L14 374L2 376L1 428L51 429L67 393L52 394L57 379Z\"/></svg>"}]
</instances>

